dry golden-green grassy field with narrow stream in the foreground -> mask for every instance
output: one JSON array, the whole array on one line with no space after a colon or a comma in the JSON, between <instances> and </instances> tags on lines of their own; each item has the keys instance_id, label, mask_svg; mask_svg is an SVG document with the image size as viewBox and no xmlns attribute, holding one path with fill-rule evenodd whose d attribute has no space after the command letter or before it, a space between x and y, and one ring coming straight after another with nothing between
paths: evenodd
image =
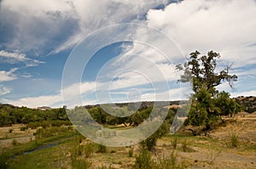
<instances>
[{"instance_id":1,"label":"dry golden-green grassy field with narrow stream in the foreground","mask_svg":"<svg viewBox=\"0 0 256 169\"><path fill-rule=\"evenodd\" d=\"M13 131L9 132L9 128ZM0 128L2 168L134 168L142 151L138 144L99 151L98 144L74 130L36 139L35 130L20 132L19 128ZM167 134L158 140L151 161L171 159L180 168L253 169L256 168L255 128L256 118L251 117L226 120L208 136L190 136L183 127L177 134Z\"/></svg>"}]
</instances>

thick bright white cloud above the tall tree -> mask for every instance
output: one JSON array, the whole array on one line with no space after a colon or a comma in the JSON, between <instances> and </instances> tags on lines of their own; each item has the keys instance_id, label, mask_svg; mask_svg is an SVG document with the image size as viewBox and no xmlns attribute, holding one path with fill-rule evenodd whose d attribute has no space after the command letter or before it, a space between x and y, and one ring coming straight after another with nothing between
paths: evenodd
<instances>
[{"instance_id":1,"label":"thick bright white cloud above the tall tree","mask_svg":"<svg viewBox=\"0 0 256 169\"><path fill-rule=\"evenodd\" d=\"M147 18L148 25L172 37L184 54L215 50L223 59L243 64L246 57L255 64L256 49L244 47L255 42L255 15L253 0L185 0L150 9Z\"/></svg>"}]
</instances>

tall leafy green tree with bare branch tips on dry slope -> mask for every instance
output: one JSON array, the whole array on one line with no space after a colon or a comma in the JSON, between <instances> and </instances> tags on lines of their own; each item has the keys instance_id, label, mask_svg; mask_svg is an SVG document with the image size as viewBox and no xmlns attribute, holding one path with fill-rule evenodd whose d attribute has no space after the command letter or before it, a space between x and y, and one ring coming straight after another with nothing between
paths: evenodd
<instances>
[{"instance_id":1,"label":"tall leafy green tree with bare branch tips on dry slope","mask_svg":"<svg viewBox=\"0 0 256 169\"><path fill-rule=\"evenodd\" d=\"M177 70L183 70L179 82L191 82L194 91L187 120L191 125L206 125L209 128L220 115L239 110L229 93L219 92L216 88L222 82L229 82L230 87L233 87L233 82L237 81L236 75L230 75L230 66L219 71L216 69L216 60L219 58L220 55L213 51L207 55L195 51L189 54L189 59L183 65L177 65Z\"/></svg>"}]
</instances>

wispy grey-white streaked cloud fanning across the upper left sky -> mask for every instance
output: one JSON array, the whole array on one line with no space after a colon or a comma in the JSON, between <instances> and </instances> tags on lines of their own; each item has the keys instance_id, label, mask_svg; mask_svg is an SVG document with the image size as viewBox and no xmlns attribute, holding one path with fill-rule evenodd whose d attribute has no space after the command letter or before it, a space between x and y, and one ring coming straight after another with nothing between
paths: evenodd
<instances>
[{"instance_id":1,"label":"wispy grey-white streaked cloud fanning across the upper left sky","mask_svg":"<svg viewBox=\"0 0 256 169\"><path fill-rule=\"evenodd\" d=\"M58 53L104 26L139 21L149 8L163 3L167 1L5 0L0 19L11 27L13 38L3 45L24 53L42 54L43 48Z\"/></svg>"}]
</instances>

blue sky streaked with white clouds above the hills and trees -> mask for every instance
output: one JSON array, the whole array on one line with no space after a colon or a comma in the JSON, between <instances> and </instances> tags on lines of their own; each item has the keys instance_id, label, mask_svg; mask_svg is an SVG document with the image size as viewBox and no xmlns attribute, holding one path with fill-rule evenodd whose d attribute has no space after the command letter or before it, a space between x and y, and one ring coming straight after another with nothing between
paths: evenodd
<instances>
[{"instance_id":1,"label":"blue sky streaked with white clouds above the hills and trees","mask_svg":"<svg viewBox=\"0 0 256 169\"><path fill-rule=\"evenodd\" d=\"M198 50L256 96L255 0L2 0L0 103L68 107L188 99L175 65Z\"/></svg>"}]
</instances>

